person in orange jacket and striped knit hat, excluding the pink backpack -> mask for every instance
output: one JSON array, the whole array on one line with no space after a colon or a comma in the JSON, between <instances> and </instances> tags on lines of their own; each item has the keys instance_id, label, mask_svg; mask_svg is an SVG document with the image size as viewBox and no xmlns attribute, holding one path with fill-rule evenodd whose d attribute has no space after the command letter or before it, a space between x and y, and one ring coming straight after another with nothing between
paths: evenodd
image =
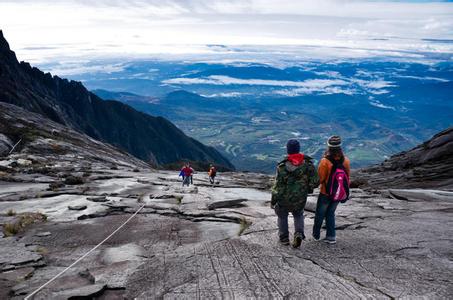
<instances>
[{"instance_id":1,"label":"person in orange jacket and striped knit hat, excluding the pink backpack","mask_svg":"<svg viewBox=\"0 0 453 300\"><path fill-rule=\"evenodd\" d=\"M335 210L340 201L333 201L327 190L329 177L331 175L334 164L336 169L342 169L346 173L346 185L349 193L349 176L351 167L349 159L343 154L341 149L341 138L339 136L331 136L327 140L327 150L323 158L319 162L318 175L320 181L320 193L316 204L315 221L313 224L313 238L319 240L321 237L321 226L326 219L327 233L325 242L329 244L336 243L335 236ZM344 174L343 173L343 174Z\"/></svg>"}]
</instances>

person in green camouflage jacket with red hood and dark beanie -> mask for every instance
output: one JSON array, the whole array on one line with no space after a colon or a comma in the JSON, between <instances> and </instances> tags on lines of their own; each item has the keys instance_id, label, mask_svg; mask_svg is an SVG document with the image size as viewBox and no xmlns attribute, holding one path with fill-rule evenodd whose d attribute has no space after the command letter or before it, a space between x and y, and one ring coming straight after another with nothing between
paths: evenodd
<instances>
[{"instance_id":1,"label":"person in green camouflage jacket with red hood and dark beanie","mask_svg":"<svg viewBox=\"0 0 453 300\"><path fill-rule=\"evenodd\" d=\"M272 187L271 208L278 217L280 243L289 245L288 214L294 217L292 246L298 248L304 234L304 208L307 195L319 185L318 174L312 158L300 153L300 144L290 139L286 144L288 156L277 166L277 175Z\"/></svg>"}]
</instances>

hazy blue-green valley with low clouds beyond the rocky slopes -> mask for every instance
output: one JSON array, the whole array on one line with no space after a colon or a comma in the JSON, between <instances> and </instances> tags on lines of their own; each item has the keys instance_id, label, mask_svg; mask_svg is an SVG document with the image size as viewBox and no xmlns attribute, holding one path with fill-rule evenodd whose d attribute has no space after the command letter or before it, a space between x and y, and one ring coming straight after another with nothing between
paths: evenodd
<instances>
[{"instance_id":1,"label":"hazy blue-green valley with low clouds beyond the rocky slopes","mask_svg":"<svg viewBox=\"0 0 453 300\"><path fill-rule=\"evenodd\" d=\"M103 99L171 120L242 171L273 174L289 138L319 160L333 134L362 168L411 149L453 119L449 62L114 62L114 72L71 78Z\"/></svg>"}]
</instances>

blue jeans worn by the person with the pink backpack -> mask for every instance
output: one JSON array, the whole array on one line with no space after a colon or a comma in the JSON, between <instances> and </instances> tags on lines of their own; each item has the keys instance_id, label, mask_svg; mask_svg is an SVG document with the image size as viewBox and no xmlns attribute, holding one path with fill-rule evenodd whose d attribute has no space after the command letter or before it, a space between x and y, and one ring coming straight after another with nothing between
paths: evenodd
<instances>
[{"instance_id":1,"label":"blue jeans worn by the person with the pink backpack","mask_svg":"<svg viewBox=\"0 0 453 300\"><path fill-rule=\"evenodd\" d=\"M321 226L326 219L327 239L335 239L335 210L339 202L334 202L326 195L319 194L318 203L316 204L315 223L313 225L313 237L321 237Z\"/></svg>"}]
</instances>

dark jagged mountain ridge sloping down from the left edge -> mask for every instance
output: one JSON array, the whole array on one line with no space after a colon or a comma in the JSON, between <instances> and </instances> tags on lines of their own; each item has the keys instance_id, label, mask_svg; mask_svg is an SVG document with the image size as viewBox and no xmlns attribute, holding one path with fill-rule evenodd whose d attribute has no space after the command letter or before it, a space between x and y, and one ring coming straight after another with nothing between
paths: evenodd
<instances>
[{"instance_id":1,"label":"dark jagged mountain ridge sloping down from the left edge","mask_svg":"<svg viewBox=\"0 0 453 300\"><path fill-rule=\"evenodd\" d=\"M149 116L117 101L104 101L80 82L19 63L1 31L0 101L39 113L154 164L189 159L234 169L217 150L187 137L165 118Z\"/></svg>"}]
</instances>

